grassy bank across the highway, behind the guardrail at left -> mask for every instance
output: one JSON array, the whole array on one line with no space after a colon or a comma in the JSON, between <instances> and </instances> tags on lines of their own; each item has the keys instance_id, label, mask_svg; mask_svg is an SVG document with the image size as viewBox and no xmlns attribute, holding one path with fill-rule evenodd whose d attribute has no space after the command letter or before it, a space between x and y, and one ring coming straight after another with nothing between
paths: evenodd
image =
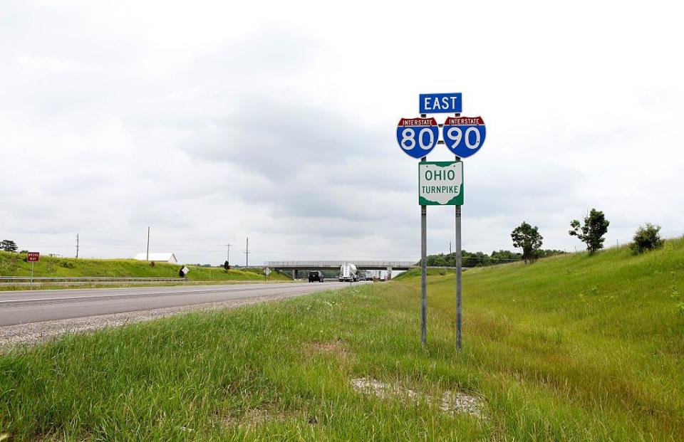
<instances>
[{"instance_id":1,"label":"grassy bank across the highway, behind the guardrail at left","mask_svg":"<svg viewBox=\"0 0 684 442\"><path fill-rule=\"evenodd\" d=\"M31 276L31 263L25 261L26 254L0 251L0 276ZM129 278L178 278L181 264L155 263L152 267L146 261L133 259L75 259L41 256L36 263L36 277L54 276L110 276ZM187 265L187 278L192 281L242 281L264 280L261 268L223 268ZM289 280L285 275L271 272L271 280Z\"/></svg>"}]
</instances>

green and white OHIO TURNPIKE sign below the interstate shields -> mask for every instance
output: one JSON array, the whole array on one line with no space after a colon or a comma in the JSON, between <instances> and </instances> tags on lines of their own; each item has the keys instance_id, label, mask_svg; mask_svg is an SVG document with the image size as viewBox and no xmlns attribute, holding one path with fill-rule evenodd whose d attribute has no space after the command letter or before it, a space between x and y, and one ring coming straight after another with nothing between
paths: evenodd
<instances>
[{"instance_id":1,"label":"green and white OHIO TURNPIKE sign below the interstate shields","mask_svg":"<svg viewBox=\"0 0 684 442\"><path fill-rule=\"evenodd\" d=\"M463 163L435 161L418 163L420 206L463 205Z\"/></svg>"}]
</instances>

